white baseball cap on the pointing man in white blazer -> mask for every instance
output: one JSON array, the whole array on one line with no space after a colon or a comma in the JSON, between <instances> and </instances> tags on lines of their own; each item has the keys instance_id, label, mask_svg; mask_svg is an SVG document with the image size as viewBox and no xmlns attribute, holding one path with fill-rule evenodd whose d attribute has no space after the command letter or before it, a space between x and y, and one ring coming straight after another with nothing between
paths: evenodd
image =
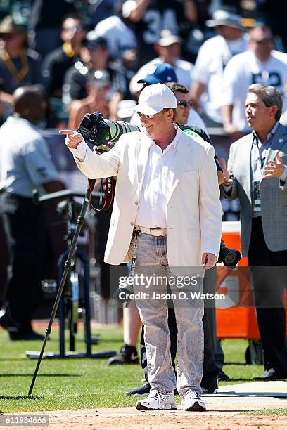
<instances>
[{"instance_id":1,"label":"white baseball cap on the pointing man in white blazer","mask_svg":"<svg viewBox=\"0 0 287 430\"><path fill-rule=\"evenodd\" d=\"M177 98L165 84L146 86L139 96L139 103L133 107L136 112L146 115L155 115L162 109L175 109Z\"/></svg>"}]
</instances>

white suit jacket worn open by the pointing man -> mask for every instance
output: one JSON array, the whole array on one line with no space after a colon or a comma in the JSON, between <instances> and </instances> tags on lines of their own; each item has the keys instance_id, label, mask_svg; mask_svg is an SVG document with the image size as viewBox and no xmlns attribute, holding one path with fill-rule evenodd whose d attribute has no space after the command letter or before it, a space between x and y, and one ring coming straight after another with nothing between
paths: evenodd
<instances>
[{"instance_id":1,"label":"white suit jacket worn open by the pointing man","mask_svg":"<svg viewBox=\"0 0 287 430\"><path fill-rule=\"evenodd\" d=\"M167 259L174 275L198 273L198 268L203 275L202 253L214 250L218 255L222 235L214 150L209 143L180 133L167 203ZM87 178L117 176L106 263L127 261L150 145L151 139L136 131L121 136L101 156L87 148L84 161L77 162Z\"/></svg>"}]
</instances>

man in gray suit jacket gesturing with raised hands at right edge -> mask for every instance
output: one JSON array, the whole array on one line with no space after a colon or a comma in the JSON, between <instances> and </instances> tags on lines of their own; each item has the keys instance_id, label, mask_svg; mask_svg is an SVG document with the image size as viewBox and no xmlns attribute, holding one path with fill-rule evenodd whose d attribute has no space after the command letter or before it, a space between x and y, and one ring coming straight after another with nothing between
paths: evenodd
<instances>
[{"instance_id":1,"label":"man in gray suit jacket gesturing with raised hands at right edge","mask_svg":"<svg viewBox=\"0 0 287 430\"><path fill-rule=\"evenodd\" d=\"M253 281L264 380L287 377L287 128L279 124L282 104L273 86L250 85L245 115L253 132L231 145L228 170L222 160L222 197L238 197L241 204L241 248Z\"/></svg>"}]
</instances>

